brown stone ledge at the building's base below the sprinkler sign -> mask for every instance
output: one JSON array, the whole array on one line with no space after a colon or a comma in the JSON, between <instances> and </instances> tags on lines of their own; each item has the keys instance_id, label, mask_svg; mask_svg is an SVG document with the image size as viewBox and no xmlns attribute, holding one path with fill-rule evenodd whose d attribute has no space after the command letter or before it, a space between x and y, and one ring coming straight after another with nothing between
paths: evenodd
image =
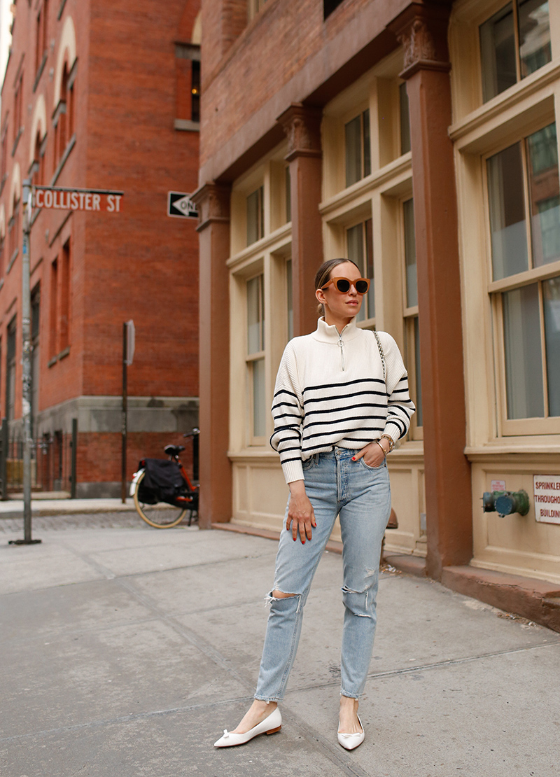
<instances>
[{"instance_id":1,"label":"brown stone ledge at the building's base below the sprinkler sign","mask_svg":"<svg viewBox=\"0 0 560 777\"><path fill-rule=\"evenodd\" d=\"M560 587L546 580L520 577L472 566L446 566L441 583L459 594L513 612L560 632Z\"/></svg>"}]
</instances>

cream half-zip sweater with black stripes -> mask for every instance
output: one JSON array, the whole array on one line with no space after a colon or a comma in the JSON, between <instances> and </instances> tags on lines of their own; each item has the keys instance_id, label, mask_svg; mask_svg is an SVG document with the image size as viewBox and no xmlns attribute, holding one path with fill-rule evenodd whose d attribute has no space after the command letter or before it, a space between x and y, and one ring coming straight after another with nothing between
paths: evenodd
<instances>
[{"instance_id":1,"label":"cream half-zip sweater with black stripes","mask_svg":"<svg viewBox=\"0 0 560 777\"><path fill-rule=\"evenodd\" d=\"M319 319L310 335L294 337L283 352L274 389L274 434L286 483L304 478L301 462L315 453L359 450L389 434L396 442L415 411L405 365L395 340L379 338L354 320L341 334Z\"/></svg>"}]
</instances>

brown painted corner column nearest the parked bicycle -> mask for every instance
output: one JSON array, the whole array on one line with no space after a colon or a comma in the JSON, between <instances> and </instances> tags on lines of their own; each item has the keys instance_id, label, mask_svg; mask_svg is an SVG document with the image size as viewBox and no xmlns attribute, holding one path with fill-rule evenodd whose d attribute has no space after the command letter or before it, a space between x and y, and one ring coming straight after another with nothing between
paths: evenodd
<instances>
[{"instance_id":1,"label":"brown painted corner column nearest the parked bicycle","mask_svg":"<svg viewBox=\"0 0 560 777\"><path fill-rule=\"evenodd\" d=\"M200 528L231 519L229 273L231 187L206 183L199 212Z\"/></svg>"}]
</instances>

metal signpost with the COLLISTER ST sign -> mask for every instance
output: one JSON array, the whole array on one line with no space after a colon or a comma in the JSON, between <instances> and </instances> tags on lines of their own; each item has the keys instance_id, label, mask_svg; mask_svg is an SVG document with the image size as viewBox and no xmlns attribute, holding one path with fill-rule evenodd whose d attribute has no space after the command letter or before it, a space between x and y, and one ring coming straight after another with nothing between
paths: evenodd
<instances>
[{"instance_id":1,"label":"metal signpost with the COLLISTER ST sign","mask_svg":"<svg viewBox=\"0 0 560 777\"><path fill-rule=\"evenodd\" d=\"M23 181L23 249L22 249L22 420L23 420L23 539L11 540L10 545L34 545L40 539L31 538L31 288L30 236L33 207L61 211L104 211L120 213L122 191L107 189L75 189L62 186L32 186Z\"/></svg>"}]
</instances>

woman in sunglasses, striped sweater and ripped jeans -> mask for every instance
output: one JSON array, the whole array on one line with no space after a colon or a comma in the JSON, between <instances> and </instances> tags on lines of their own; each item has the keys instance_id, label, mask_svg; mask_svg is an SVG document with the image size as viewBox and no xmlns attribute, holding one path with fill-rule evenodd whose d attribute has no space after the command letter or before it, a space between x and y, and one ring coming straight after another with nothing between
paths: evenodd
<instances>
[{"instance_id":1,"label":"woman in sunglasses, striped sweater and ripped jeans","mask_svg":"<svg viewBox=\"0 0 560 777\"><path fill-rule=\"evenodd\" d=\"M381 541L391 511L385 458L405 436L415 410L395 340L387 333L377 340L356 326L369 284L349 260L324 262L315 276L323 317L314 333L290 340L280 362L271 444L290 488L286 527L255 701L215 747L280 730L278 702L294 663L311 580L337 515L345 605L337 736L347 750L363 742L358 698L374 644Z\"/></svg>"}]
</instances>

